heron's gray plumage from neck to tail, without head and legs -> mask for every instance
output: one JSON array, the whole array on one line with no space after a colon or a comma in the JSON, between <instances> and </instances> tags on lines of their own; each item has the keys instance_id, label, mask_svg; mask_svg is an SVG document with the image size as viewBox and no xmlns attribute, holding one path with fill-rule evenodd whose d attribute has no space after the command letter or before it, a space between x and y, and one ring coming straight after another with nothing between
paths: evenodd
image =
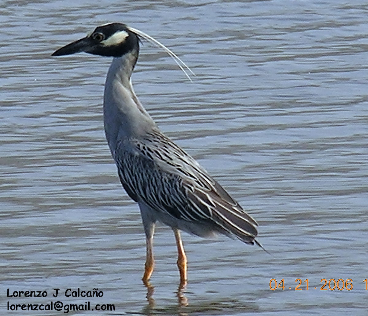
<instances>
[{"instance_id":1,"label":"heron's gray plumage from neck to tail, without head and legs","mask_svg":"<svg viewBox=\"0 0 368 316\"><path fill-rule=\"evenodd\" d=\"M199 236L220 232L253 243L257 223L180 147L161 133L135 95L138 51L114 58L105 84L107 141L129 196L156 220Z\"/></svg>"}]
</instances>

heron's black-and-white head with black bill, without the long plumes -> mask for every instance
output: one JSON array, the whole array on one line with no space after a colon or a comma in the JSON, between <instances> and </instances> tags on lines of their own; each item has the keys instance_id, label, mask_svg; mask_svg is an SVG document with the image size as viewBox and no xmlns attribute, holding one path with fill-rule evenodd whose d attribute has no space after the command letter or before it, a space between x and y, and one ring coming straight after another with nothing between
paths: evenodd
<instances>
[{"instance_id":1,"label":"heron's black-and-white head with black bill, without the long plumes","mask_svg":"<svg viewBox=\"0 0 368 316\"><path fill-rule=\"evenodd\" d=\"M127 25L110 23L99 27L86 37L54 52L52 56L86 52L93 55L120 57L132 50L139 51L139 38Z\"/></svg>"}]
</instances>

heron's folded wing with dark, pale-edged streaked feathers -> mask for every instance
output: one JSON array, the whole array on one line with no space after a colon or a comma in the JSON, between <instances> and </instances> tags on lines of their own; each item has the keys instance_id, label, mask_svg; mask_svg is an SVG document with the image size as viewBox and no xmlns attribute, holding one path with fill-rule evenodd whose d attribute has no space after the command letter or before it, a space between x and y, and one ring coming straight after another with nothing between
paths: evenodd
<instances>
[{"instance_id":1,"label":"heron's folded wing with dark, pale-edged streaked feathers","mask_svg":"<svg viewBox=\"0 0 368 316\"><path fill-rule=\"evenodd\" d=\"M127 150L127 147L129 148ZM118 145L114 155L121 183L144 201L185 221L214 221L229 234L253 243L257 222L190 155L159 131Z\"/></svg>"}]
</instances>

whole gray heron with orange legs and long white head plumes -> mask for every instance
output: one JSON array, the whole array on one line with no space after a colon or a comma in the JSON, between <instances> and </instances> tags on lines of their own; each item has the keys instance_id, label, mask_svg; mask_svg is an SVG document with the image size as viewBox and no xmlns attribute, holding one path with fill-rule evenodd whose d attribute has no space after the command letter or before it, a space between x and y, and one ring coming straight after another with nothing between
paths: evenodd
<instances>
[{"instance_id":1,"label":"whole gray heron with orange legs and long white head plumes","mask_svg":"<svg viewBox=\"0 0 368 316\"><path fill-rule=\"evenodd\" d=\"M194 158L160 131L139 102L131 75L141 39L163 48L190 77L191 70L170 49L122 23L96 27L52 56L86 52L113 57L103 96L104 127L120 182L138 203L142 217L146 236L142 280L148 284L153 272L153 235L161 222L174 232L180 284L186 284L187 256L180 231L201 237L223 234L261 246L255 239L258 224Z\"/></svg>"}]
</instances>

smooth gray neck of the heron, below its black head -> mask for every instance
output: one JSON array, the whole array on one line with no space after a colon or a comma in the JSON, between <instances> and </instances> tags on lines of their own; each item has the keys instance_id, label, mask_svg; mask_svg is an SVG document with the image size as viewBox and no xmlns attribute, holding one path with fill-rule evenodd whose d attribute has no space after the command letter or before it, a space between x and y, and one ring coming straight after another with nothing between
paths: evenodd
<instances>
[{"instance_id":1,"label":"smooth gray neck of the heron, below its black head","mask_svg":"<svg viewBox=\"0 0 368 316\"><path fill-rule=\"evenodd\" d=\"M130 76L138 52L116 57L107 73L103 99L105 133L114 155L118 141L139 138L156 127L134 93Z\"/></svg>"}]
</instances>

